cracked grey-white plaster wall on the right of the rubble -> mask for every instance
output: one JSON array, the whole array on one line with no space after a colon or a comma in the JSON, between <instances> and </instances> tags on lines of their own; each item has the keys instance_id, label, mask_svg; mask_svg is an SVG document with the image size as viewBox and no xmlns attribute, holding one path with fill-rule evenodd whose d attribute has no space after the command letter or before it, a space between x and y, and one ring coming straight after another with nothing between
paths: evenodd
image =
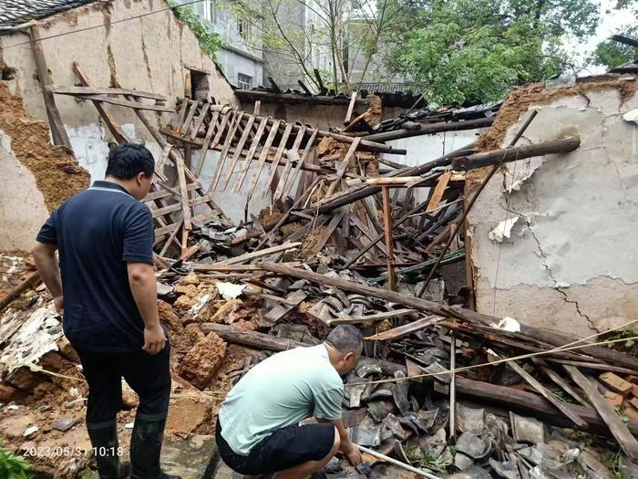
<instances>
[{"instance_id":1,"label":"cracked grey-white plaster wall on the right of the rubble","mask_svg":"<svg viewBox=\"0 0 638 479\"><path fill-rule=\"evenodd\" d=\"M538 109L519 145L575 135L581 147L507 163L481 193L468 215L478 311L581 336L635 318L638 125L623 114L638 81L617 81L532 101L509 125L503 146Z\"/></svg>"}]
</instances>

